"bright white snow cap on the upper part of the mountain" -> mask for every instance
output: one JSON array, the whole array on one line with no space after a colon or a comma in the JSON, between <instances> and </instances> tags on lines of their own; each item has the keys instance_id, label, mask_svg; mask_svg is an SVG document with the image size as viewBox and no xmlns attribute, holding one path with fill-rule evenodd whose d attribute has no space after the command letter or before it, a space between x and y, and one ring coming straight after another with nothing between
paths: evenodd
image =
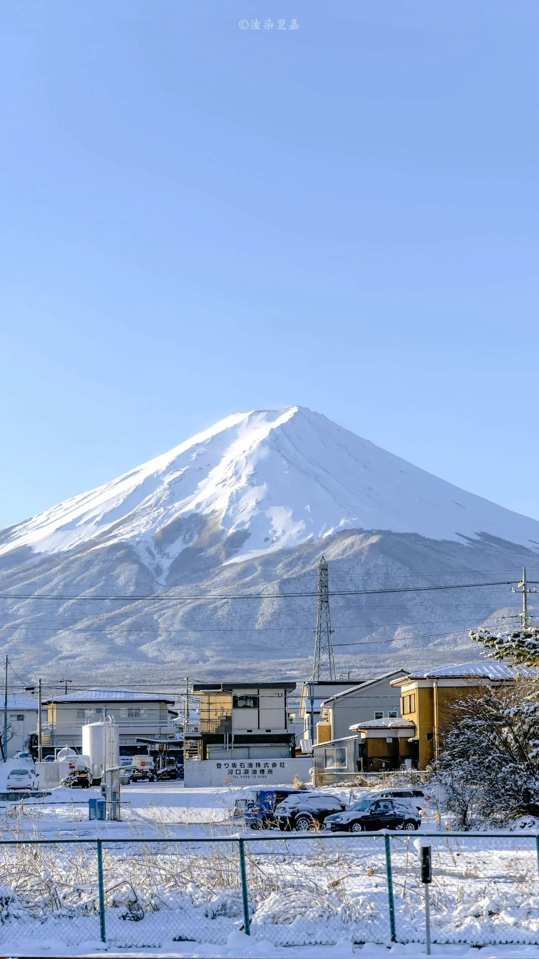
<instances>
[{"instance_id":1,"label":"bright white snow cap on the upper part of the mountain","mask_svg":"<svg viewBox=\"0 0 539 959\"><path fill-rule=\"evenodd\" d=\"M539 544L535 520L437 479L319 413L288 407L229 416L170 453L12 526L0 537L0 555L129 543L164 584L178 553L216 524L217 539L230 544L224 561L350 528Z\"/></svg>"}]
</instances>

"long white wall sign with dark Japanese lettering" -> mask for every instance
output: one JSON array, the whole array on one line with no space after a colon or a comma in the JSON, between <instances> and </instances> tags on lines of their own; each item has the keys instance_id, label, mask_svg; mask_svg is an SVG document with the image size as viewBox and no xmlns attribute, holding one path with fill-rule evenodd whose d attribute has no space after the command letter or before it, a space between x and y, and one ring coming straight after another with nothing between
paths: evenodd
<instances>
[{"instance_id":1,"label":"long white wall sign with dark Japanese lettering","mask_svg":"<svg viewBox=\"0 0 539 959\"><path fill-rule=\"evenodd\" d=\"M187 760L183 765L185 786L284 785L298 776L309 783L312 757L294 760Z\"/></svg>"}]
</instances>

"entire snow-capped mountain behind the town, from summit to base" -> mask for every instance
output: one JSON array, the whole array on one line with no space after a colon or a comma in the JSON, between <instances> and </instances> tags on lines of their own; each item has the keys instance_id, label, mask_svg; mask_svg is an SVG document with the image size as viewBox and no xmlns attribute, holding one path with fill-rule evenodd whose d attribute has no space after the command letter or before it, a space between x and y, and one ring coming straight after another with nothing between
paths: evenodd
<instances>
[{"instance_id":1,"label":"entire snow-capped mountain behind the town, from summit to base","mask_svg":"<svg viewBox=\"0 0 539 959\"><path fill-rule=\"evenodd\" d=\"M469 628L514 617L507 584L539 572L539 522L309 409L237 413L0 532L4 651L33 679L304 678L322 552L356 677L469 658Z\"/></svg>"}]
</instances>

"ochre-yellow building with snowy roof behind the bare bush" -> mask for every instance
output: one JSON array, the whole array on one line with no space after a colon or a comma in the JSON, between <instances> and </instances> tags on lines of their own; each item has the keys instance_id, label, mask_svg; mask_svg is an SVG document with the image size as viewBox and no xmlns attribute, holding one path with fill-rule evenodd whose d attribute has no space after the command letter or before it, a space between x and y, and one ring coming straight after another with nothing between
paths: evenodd
<instances>
[{"instance_id":1,"label":"ochre-yellow building with snowy roof behind the bare bush","mask_svg":"<svg viewBox=\"0 0 539 959\"><path fill-rule=\"evenodd\" d=\"M410 737L410 756L418 769L436 759L443 732L455 716L455 704L473 690L514 681L515 671L500 663L462 663L413 672L395 679L400 689L401 715L415 727Z\"/></svg>"}]
</instances>

